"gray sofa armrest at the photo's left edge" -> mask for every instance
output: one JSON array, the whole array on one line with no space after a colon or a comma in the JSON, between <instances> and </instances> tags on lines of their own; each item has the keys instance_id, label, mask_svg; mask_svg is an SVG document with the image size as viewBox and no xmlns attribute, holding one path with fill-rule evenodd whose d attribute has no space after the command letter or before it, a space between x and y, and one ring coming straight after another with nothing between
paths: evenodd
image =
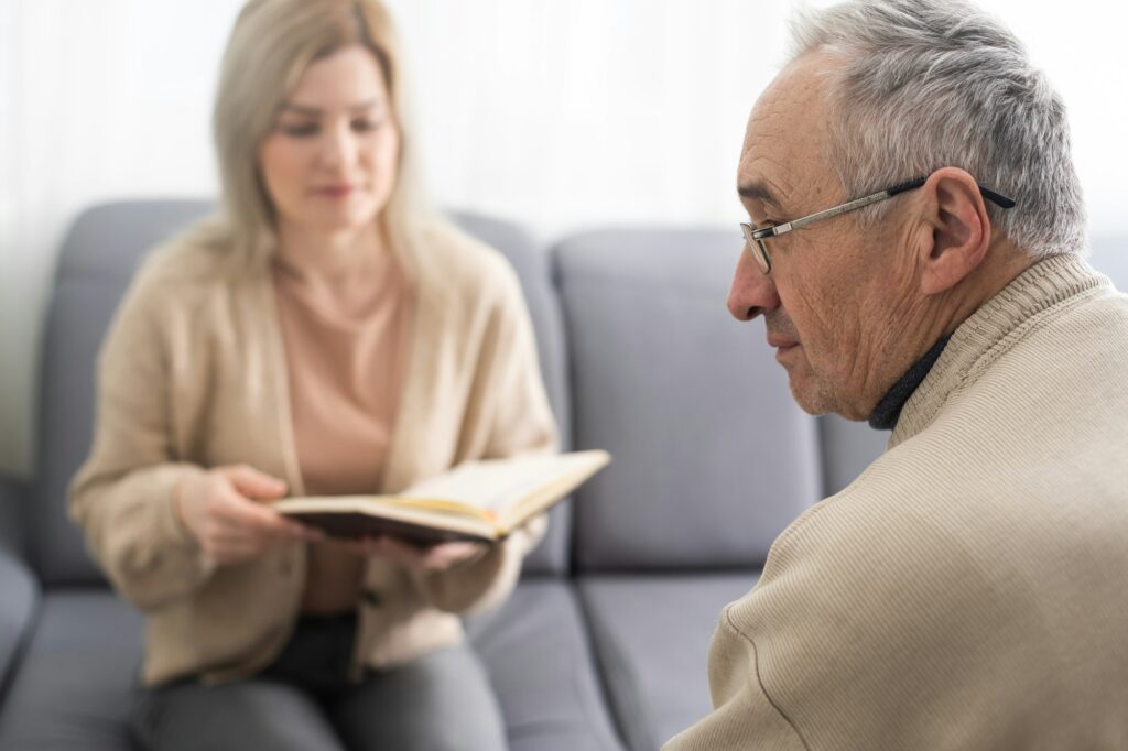
<instances>
[{"instance_id":1,"label":"gray sofa armrest at the photo's left edge","mask_svg":"<svg viewBox=\"0 0 1128 751\"><path fill-rule=\"evenodd\" d=\"M0 698L27 640L39 602L39 585L21 557L26 486L0 476Z\"/></svg>"}]
</instances>

